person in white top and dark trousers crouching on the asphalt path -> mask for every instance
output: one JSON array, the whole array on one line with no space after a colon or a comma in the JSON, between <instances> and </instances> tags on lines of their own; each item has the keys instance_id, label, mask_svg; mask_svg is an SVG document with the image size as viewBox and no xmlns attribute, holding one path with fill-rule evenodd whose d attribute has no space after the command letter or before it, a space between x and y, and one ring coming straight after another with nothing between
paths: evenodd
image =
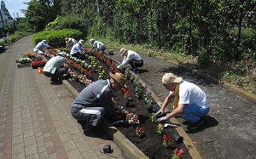
<instances>
[{"instance_id":1,"label":"person in white top and dark trousers crouching on the asphalt path","mask_svg":"<svg viewBox=\"0 0 256 159\"><path fill-rule=\"evenodd\" d=\"M120 65L125 66L127 64L130 64L133 71L137 71L137 67L143 66L143 59L136 52L121 48L120 54L121 56L125 56L124 60ZM118 65L117 68L119 68L120 65Z\"/></svg>"}]
</instances>

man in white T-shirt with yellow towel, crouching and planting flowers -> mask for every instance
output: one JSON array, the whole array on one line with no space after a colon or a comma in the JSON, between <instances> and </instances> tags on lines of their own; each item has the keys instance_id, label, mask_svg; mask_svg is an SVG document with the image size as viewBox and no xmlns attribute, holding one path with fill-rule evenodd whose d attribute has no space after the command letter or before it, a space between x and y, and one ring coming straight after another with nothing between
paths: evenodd
<instances>
[{"instance_id":1,"label":"man in white T-shirt with yellow towel, crouching and planting flowers","mask_svg":"<svg viewBox=\"0 0 256 159\"><path fill-rule=\"evenodd\" d=\"M156 116L162 115L174 97L174 110L157 119L157 122L165 122L171 117L180 115L185 121L189 122L188 130L198 128L203 122L202 116L207 116L210 111L207 95L194 83L186 82L182 77L176 77L172 73L166 73L162 77L163 86L170 91L166 96L160 110Z\"/></svg>"}]
</instances>

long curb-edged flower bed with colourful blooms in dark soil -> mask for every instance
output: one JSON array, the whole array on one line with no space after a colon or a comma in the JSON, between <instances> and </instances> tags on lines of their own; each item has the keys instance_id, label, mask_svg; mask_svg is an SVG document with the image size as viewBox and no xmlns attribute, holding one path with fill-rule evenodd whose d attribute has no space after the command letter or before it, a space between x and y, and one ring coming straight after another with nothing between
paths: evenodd
<instances>
[{"instance_id":1,"label":"long curb-edged flower bed with colourful blooms in dark soil","mask_svg":"<svg viewBox=\"0 0 256 159\"><path fill-rule=\"evenodd\" d=\"M147 86L142 86L140 79L133 73L127 72L125 68L120 70L116 69L117 62L109 59L108 56L104 56L98 53L89 53L86 55L85 60L79 60L79 62L70 56L67 56L68 60L73 65L76 65L75 73L84 75L82 71L85 69L83 65L85 63L90 65L92 71L90 76L85 76L92 81L96 81L99 77L105 79L108 78L109 71L123 71L130 80L126 82L128 90L119 91L114 93L114 101L117 111L120 115L124 116L123 121L111 121L113 125L119 129L125 137L142 150L143 153L149 158L186 158L190 159L189 151L186 149L183 143L177 143L174 136L177 135L177 130L174 127L164 128L162 124L154 122L154 111L158 107L151 94L146 91ZM93 58L93 57L96 57ZM84 62L82 62L84 61ZM102 67L100 67L102 66ZM102 75L102 70L104 74ZM87 70L88 71L88 70ZM87 75L85 73L85 75ZM78 80L76 82L72 74L67 79L68 82L80 92L86 84ZM90 83L88 83L90 84ZM129 101L129 105L125 106L125 102ZM181 155L182 154L182 155Z\"/></svg>"}]
</instances>

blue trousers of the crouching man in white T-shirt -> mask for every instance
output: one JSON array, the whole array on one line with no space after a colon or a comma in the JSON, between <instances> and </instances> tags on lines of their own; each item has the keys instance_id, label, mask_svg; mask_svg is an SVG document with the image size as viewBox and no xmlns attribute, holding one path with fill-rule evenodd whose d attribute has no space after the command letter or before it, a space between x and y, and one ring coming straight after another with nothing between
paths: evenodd
<instances>
[{"instance_id":1,"label":"blue trousers of the crouching man in white T-shirt","mask_svg":"<svg viewBox=\"0 0 256 159\"><path fill-rule=\"evenodd\" d=\"M201 108L195 104L185 105L181 116L188 122L197 122L201 116L207 116L209 111L210 108Z\"/></svg>"}]
</instances>

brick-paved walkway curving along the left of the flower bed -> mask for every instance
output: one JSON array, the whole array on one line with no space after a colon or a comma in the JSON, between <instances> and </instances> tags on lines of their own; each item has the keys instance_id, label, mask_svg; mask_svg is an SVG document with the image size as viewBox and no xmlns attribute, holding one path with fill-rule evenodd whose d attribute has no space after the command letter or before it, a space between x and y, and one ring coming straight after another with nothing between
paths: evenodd
<instances>
[{"instance_id":1,"label":"brick-paved walkway curving along the left of the flower bed","mask_svg":"<svg viewBox=\"0 0 256 159\"><path fill-rule=\"evenodd\" d=\"M50 85L32 67L17 67L15 60L32 48L29 36L0 54L0 158L127 158L107 135L84 135L70 115L74 96L67 88ZM102 153L103 145L113 153Z\"/></svg>"}]
</instances>

